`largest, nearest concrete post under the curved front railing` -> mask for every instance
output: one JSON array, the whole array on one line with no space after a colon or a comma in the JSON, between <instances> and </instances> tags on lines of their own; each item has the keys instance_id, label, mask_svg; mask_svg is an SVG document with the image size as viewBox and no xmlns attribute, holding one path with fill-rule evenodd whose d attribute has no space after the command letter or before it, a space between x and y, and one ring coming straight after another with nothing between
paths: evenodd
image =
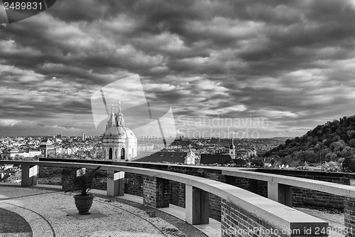
<instances>
[{"instance_id":1,"label":"largest, nearest concrete post under the curved front railing","mask_svg":"<svg viewBox=\"0 0 355 237\"><path fill-rule=\"evenodd\" d=\"M185 184L185 220L192 225L209 223L209 193Z\"/></svg>"}]
</instances>

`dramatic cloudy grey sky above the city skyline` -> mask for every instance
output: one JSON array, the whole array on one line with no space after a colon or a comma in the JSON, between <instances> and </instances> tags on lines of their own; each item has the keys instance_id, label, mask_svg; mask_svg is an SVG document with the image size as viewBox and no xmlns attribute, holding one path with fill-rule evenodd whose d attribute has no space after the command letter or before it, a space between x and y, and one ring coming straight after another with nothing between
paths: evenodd
<instances>
[{"instance_id":1,"label":"dramatic cloudy grey sky above the city skyline","mask_svg":"<svg viewBox=\"0 0 355 237\"><path fill-rule=\"evenodd\" d=\"M0 136L100 135L92 95L134 74L180 134L302 135L355 114L354 22L342 0L57 0L0 26Z\"/></svg>"}]
</instances>

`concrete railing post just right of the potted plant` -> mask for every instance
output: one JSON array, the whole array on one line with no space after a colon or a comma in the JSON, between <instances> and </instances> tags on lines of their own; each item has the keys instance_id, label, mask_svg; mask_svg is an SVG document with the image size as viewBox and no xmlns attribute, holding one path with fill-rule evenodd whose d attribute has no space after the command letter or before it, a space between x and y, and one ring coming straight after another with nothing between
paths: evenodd
<instances>
[{"instance_id":1,"label":"concrete railing post just right of the potted plant","mask_svg":"<svg viewBox=\"0 0 355 237\"><path fill-rule=\"evenodd\" d=\"M107 196L124 196L124 172L107 171Z\"/></svg>"}]
</instances>

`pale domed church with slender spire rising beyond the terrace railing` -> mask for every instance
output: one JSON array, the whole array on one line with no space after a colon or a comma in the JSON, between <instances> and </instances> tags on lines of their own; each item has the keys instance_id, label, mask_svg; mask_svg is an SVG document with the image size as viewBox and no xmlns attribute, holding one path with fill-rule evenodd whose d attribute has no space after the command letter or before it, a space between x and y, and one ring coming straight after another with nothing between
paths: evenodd
<instances>
[{"instance_id":1,"label":"pale domed church with slender spire rising beyond the terrace railing","mask_svg":"<svg viewBox=\"0 0 355 237\"><path fill-rule=\"evenodd\" d=\"M102 148L104 149L104 159L107 160L123 162L137 156L137 137L124 124L121 103L119 112L115 113L114 108L111 108L111 115L102 137Z\"/></svg>"}]
</instances>

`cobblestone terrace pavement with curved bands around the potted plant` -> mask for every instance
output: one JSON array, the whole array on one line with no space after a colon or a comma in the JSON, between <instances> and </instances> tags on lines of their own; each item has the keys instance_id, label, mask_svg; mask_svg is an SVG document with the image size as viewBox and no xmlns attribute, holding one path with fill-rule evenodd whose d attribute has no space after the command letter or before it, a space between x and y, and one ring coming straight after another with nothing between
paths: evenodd
<instances>
[{"instance_id":1,"label":"cobblestone terrace pavement with curved bands around the potted plant","mask_svg":"<svg viewBox=\"0 0 355 237\"><path fill-rule=\"evenodd\" d=\"M102 196L94 198L92 209L103 217L77 219L66 212L75 209L72 196L62 191L0 185L0 236L185 236L163 218ZM22 227L13 227L13 222Z\"/></svg>"}]
</instances>

